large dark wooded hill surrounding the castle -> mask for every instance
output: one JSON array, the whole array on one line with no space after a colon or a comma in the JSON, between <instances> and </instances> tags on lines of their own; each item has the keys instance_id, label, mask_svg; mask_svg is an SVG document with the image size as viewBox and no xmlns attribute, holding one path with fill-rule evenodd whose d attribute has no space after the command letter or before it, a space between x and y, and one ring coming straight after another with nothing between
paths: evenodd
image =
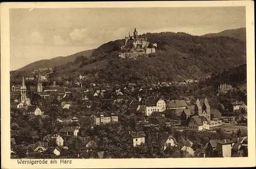
<instances>
[{"instance_id":1,"label":"large dark wooded hill surrounding the castle","mask_svg":"<svg viewBox=\"0 0 256 169\"><path fill-rule=\"evenodd\" d=\"M144 37L144 34L140 37ZM118 57L124 40L99 46L92 57L54 69L53 78L76 79L79 74L97 82L155 82L201 78L246 63L246 43L231 37L200 37L185 33L147 33L157 43L155 54L138 60Z\"/></svg>"}]
</instances>

